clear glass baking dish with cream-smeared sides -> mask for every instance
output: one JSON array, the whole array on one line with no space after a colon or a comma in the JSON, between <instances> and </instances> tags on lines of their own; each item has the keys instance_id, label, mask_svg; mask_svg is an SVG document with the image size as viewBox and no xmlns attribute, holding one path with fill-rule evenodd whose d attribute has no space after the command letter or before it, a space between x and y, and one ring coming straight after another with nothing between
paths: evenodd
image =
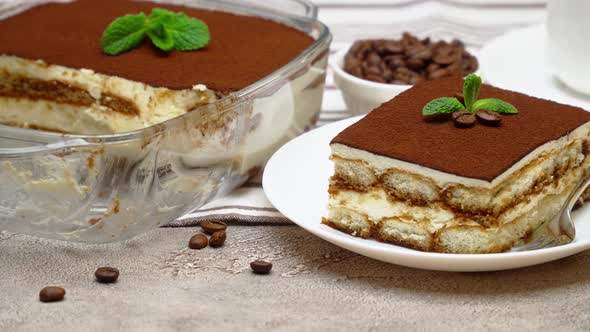
<instances>
[{"instance_id":1,"label":"clear glass baking dish with cream-smeared sides","mask_svg":"<svg viewBox=\"0 0 590 332\"><path fill-rule=\"evenodd\" d=\"M316 7L304 0L153 2L266 17L315 42L247 88L142 130L64 135L0 126L0 230L87 243L128 239L228 193L315 124L331 42ZM0 18L29 6L4 3Z\"/></svg>"}]
</instances>

